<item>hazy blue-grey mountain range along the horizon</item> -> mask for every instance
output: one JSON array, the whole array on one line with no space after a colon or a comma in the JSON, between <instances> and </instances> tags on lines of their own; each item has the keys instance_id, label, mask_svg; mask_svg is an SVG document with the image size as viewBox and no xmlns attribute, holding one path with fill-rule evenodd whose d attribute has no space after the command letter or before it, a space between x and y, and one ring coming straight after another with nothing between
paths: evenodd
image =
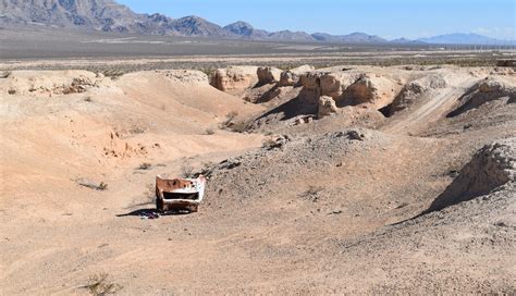
<instances>
[{"instance_id":1,"label":"hazy blue-grey mountain range along the horizon","mask_svg":"<svg viewBox=\"0 0 516 296\"><path fill-rule=\"evenodd\" d=\"M249 40L290 40L346 44L507 44L476 34L449 34L418 40L386 40L365 33L330 35L305 32L267 32L246 22L224 27L199 16L172 18L163 14L143 14L113 0L1 0L0 25L47 25L89 30L170 35ZM514 41L512 41L514 44Z\"/></svg>"}]
</instances>

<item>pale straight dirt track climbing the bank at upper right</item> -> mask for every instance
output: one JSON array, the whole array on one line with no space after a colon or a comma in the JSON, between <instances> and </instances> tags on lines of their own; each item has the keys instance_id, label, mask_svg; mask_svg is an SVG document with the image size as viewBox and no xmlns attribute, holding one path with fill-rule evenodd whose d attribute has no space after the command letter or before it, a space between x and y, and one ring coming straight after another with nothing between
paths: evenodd
<instances>
[{"instance_id":1,"label":"pale straight dirt track climbing the bank at upper right","mask_svg":"<svg viewBox=\"0 0 516 296\"><path fill-rule=\"evenodd\" d=\"M397 120L390 122L382 130L394 134L418 134L432 122L438 121L457 102L457 99L470 88L478 78L467 77L462 79L458 86L444 88L440 94L427 96L426 102L416 106L411 112L401 115Z\"/></svg>"}]
</instances>

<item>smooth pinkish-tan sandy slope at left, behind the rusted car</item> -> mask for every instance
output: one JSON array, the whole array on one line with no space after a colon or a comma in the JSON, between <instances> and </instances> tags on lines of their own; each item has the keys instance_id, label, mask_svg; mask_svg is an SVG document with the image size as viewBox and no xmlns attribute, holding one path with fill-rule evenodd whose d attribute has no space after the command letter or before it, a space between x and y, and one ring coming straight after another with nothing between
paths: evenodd
<instances>
[{"instance_id":1,"label":"smooth pinkish-tan sandy slope at left, behind the rusted car","mask_svg":"<svg viewBox=\"0 0 516 296\"><path fill-rule=\"evenodd\" d=\"M91 78L96 86L87 86L85 92L59 94L73 78L91 75L14 72L0 81L3 91L16 90L1 96L3 206L17 205L27 215L38 215L32 207L56 209L81 202L66 194L79 189L75 178L109 183L116 180L119 168L261 143L257 135L218 128L230 111L246 114L260 108L245 106L202 82L180 83L165 73L136 73L118 81ZM216 134L206 135L209 128ZM53 197L56 188L63 194ZM27 194L34 198L26 200Z\"/></svg>"}]
</instances>

